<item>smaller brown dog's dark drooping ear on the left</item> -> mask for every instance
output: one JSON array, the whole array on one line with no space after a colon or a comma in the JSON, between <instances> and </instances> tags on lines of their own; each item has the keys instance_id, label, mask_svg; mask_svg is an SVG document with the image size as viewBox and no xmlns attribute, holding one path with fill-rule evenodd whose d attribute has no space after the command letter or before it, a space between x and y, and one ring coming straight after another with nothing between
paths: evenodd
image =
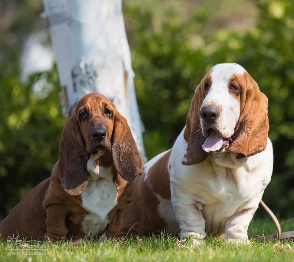
<instances>
[{"instance_id":1,"label":"smaller brown dog's dark drooping ear on the left","mask_svg":"<svg viewBox=\"0 0 294 262\"><path fill-rule=\"evenodd\" d=\"M60 187L70 195L80 195L88 184L88 155L74 113L65 122L59 144L59 154Z\"/></svg>"}]
</instances>

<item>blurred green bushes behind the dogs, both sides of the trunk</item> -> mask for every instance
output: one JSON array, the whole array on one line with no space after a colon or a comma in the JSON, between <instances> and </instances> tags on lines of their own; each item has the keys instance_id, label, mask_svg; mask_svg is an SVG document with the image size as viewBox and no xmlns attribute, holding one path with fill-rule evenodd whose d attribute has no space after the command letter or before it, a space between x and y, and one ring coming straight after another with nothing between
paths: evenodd
<instances>
[{"instance_id":1,"label":"blurred green bushes behind the dogs, both sides of the trunk","mask_svg":"<svg viewBox=\"0 0 294 262\"><path fill-rule=\"evenodd\" d=\"M34 3L19 4L27 15L20 15L10 30L30 31L31 17L42 11L41 4L31 2ZM239 63L269 98L269 137L275 160L272 181L263 199L281 217L293 216L293 2L254 2L257 22L248 30L220 26L205 30L213 12L208 4L190 12L184 10L186 14L174 5L166 6L165 1L157 3L157 8L156 1L147 1L145 5L141 2L125 1L123 11L139 110L146 129L147 157L150 159L171 147L185 125L194 89L205 73L217 63ZM208 1L211 2L216 1ZM224 3L228 2L232 1ZM32 84L41 74L32 76L27 84L21 83L19 48L5 43L2 47L5 47L5 55L2 52L0 58L0 217L3 218L29 189L50 176L58 160L65 118L58 99L56 67L47 72L48 82L55 88L46 98L38 99Z\"/></svg>"}]
</instances>

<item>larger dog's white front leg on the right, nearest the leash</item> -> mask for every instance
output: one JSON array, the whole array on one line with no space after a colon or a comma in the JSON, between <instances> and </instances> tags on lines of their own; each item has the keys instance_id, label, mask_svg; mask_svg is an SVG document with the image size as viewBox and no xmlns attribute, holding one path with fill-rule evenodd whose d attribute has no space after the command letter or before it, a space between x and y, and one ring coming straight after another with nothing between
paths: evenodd
<instances>
[{"instance_id":1,"label":"larger dog's white front leg on the right, nearest the leash","mask_svg":"<svg viewBox=\"0 0 294 262\"><path fill-rule=\"evenodd\" d=\"M247 230L257 208L245 208L230 217L225 224L227 243L250 243Z\"/></svg>"}]
</instances>

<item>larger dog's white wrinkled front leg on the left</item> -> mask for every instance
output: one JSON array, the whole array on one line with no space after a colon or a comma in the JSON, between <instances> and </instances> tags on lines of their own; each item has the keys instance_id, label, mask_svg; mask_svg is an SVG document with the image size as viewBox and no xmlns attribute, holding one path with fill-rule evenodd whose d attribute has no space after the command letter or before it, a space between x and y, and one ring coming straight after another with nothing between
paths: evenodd
<instances>
[{"instance_id":1,"label":"larger dog's white wrinkled front leg on the left","mask_svg":"<svg viewBox=\"0 0 294 262\"><path fill-rule=\"evenodd\" d=\"M190 236L195 245L202 243L203 238L206 237L202 204L192 199L192 196L184 194L183 190L173 184L171 185L171 202L179 223L180 240Z\"/></svg>"}]
</instances>

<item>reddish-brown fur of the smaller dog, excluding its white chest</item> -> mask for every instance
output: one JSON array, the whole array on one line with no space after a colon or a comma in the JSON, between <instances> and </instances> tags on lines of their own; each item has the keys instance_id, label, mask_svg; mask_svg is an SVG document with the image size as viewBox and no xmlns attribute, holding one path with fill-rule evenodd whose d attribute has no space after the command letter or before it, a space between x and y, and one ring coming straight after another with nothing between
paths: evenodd
<instances>
[{"instance_id":1,"label":"reddish-brown fur of the smaller dog, excluding its white chest","mask_svg":"<svg viewBox=\"0 0 294 262\"><path fill-rule=\"evenodd\" d=\"M111 110L111 117L104 115L105 107ZM87 119L80 116L83 110L88 112ZM90 131L101 125L107 128L108 135L99 145L107 152L97 165L113 167L113 181L118 190L118 204L108 214L111 223L106 235L124 234L124 215L134 187L133 181L127 181L142 173L143 163L126 119L109 99L89 94L78 102L72 117L66 121L60 157L51 177L33 188L0 222L2 239L13 235L32 240L46 236L53 240L85 236L81 222L88 211L82 207L80 195L88 183L88 157L98 145L91 139Z\"/></svg>"}]
</instances>

